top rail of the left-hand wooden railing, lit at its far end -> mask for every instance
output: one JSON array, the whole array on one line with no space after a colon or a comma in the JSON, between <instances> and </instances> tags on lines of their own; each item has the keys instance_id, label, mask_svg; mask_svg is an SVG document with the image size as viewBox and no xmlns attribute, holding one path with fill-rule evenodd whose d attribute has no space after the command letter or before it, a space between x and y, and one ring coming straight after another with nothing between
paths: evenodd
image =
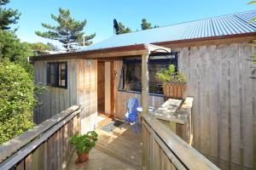
<instances>
[{"instance_id":1,"label":"top rail of the left-hand wooden railing, lit at its far end","mask_svg":"<svg viewBox=\"0 0 256 170\"><path fill-rule=\"evenodd\" d=\"M25 133L21 133L8 142L0 145L0 163L4 161L8 156L12 156L17 150L20 150L26 144L32 142L32 140L41 137L43 133L48 131L51 127L54 127L59 122L63 121L67 116L71 115L73 112L80 112L80 105L73 105L65 111L49 118L48 120L38 124L38 126L27 130ZM57 130L57 129L56 129ZM54 132L53 132L54 133Z\"/></svg>"}]
</instances>

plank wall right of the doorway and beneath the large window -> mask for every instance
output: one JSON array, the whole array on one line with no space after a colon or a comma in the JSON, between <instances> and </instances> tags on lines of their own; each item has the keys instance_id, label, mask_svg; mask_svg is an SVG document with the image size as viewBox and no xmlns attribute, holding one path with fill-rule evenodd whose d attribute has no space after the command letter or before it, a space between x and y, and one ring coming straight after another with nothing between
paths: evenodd
<instances>
[{"instance_id":1,"label":"plank wall right of the doorway and beneath the large window","mask_svg":"<svg viewBox=\"0 0 256 170\"><path fill-rule=\"evenodd\" d=\"M114 61L114 70L117 71L116 77L115 77L115 93L116 93L116 102L115 102L115 113L114 116L119 119L124 119L125 113L127 111L126 109L126 103L128 99L130 98L137 98L141 102L141 94L134 94L134 93L126 93L126 92L120 92L118 91L119 88L119 77L120 73L122 71L123 61ZM164 103L164 98L159 96L153 96L150 95L148 98L148 105L154 106L154 108L159 108L160 105Z\"/></svg>"}]
</instances>

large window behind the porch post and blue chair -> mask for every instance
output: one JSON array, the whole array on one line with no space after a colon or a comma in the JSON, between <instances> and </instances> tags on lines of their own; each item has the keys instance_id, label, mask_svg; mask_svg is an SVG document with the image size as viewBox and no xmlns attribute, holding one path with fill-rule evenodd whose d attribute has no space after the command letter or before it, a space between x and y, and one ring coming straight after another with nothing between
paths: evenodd
<instances>
[{"instance_id":1,"label":"large window behind the porch post and blue chair","mask_svg":"<svg viewBox=\"0 0 256 170\"><path fill-rule=\"evenodd\" d=\"M163 94L162 82L156 78L156 72L166 69L171 64L174 64L177 69L177 53L172 53L171 55L172 59L166 58L166 55L163 54L154 54L150 56L148 82L150 94ZM141 57L131 57L123 60L123 68L119 80L119 91L137 93L142 91Z\"/></svg>"}]
</instances>

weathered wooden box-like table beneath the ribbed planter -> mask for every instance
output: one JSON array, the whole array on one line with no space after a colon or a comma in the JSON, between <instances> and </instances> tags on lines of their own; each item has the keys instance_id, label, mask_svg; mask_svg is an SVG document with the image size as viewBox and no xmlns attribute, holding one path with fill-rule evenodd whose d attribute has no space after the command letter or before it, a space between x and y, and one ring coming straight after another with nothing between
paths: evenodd
<instances>
[{"instance_id":1,"label":"weathered wooden box-like table beneath the ribbed planter","mask_svg":"<svg viewBox=\"0 0 256 170\"><path fill-rule=\"evenodd\" d=\"M186 99L168 99L156 111L150 114L155 116L160 122L163 122L174 133L185 140L187 143L192 143L192 113L193 98Z\"/></svg>"}]
</instances>

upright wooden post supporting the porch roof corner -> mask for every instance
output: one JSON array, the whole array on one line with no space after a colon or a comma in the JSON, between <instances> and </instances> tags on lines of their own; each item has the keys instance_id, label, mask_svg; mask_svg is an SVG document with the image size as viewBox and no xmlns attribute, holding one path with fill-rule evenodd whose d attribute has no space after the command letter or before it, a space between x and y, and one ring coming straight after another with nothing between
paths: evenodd
<instances>
[{"instance_id":1,"label":"upright wooden post supporting the porch roof corner","mask_svg":"<svg viewBox=\"0 0 256 170\"><path fill-rule=\"evenodd\" d=\"M142 105L143 105L143 113L148 113L148 54L142 55Z\"/></svg>"}]
</instances>

